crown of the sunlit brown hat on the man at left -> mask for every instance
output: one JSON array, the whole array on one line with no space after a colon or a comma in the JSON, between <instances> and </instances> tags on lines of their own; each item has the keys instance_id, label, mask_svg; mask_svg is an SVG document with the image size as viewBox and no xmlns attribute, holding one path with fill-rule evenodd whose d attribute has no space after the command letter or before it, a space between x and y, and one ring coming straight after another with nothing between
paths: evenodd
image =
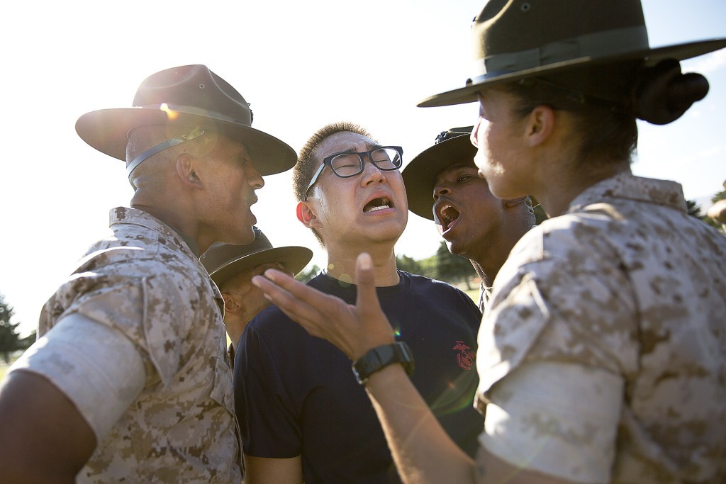
<instances>
[{"instance_id":1,"label":"crown of the sunlit brown hat on the man at left","mask_svg":"<svg viewBox=\"0 0 726 484\"><path fill-rule=\"evenodd\" d=\"M250 104L237 89L205 65L172 67L144 79L136 90L134 107L159 107L161 104L252 125Z\"/></svg>"}]
</instances>

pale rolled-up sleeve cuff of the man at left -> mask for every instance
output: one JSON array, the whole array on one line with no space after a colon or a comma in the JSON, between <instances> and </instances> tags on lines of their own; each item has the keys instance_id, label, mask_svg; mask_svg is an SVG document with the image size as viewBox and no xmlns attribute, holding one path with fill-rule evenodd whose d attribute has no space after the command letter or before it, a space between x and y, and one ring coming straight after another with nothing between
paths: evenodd
<instances>
[{"instance_id":1,"label":"pale rolled-up sleeve cuff of the man at left","mask_svg":"<svg viewBox=\"0 0 726 484\"><path fill-rule=\"evenodd\" d=\"M120 332L79 314L61 319L33 343L12 366L18 370L41 374L62 391L98 442L145 382L138 348Z\"/></svg>"}]
</instances>

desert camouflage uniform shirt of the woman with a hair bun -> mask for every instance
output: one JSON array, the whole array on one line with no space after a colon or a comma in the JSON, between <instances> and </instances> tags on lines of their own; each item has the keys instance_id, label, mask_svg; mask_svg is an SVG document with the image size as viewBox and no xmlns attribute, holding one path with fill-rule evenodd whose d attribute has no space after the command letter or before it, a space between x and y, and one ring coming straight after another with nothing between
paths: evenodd
<instances>
[{"instance_id":1,"label":"desert camouflage uniform shirt of the woman with a hair bun","mask_svg":"<svg viewBox=\"0 0 726 484\"><path fill-rule=\"evenodd\" d=\"M537 405L558 402L534 401L520 424L543 452L604 446L605 481L724 483L725 320L726 237L687 215L679 184L622 173L525 234L502 267L479 333L478 407L506 410L517 388L497 389L518 368L577 366L583 395L608 378L621 388L616 428L547 427Z\"/></svg>"}]
</instances>

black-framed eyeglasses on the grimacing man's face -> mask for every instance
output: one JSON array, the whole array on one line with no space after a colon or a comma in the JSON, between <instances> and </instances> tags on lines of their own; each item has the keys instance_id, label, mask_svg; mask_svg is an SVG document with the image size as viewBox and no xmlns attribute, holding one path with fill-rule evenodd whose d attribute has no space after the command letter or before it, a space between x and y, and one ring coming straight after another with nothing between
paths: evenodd
<instances>
[{"instance_id":1,"label":"black-framed eyeglasses on the grimacing man's face","mask_svg":"<svg viewBox=\"0 0 726 484\"><path fill-rule=\"evenodd\" d=\"M403 154L404 149L399 146L382 146L364 152L335 153L334 155L325 157L322 163L320 163L320 168L317 169L308 187L305 189L305 197L303 197L303 200L308 200L308 192L310 192L310 189L319 178L320 173L325 169L325 165L330 166L335 176L350 178L351 176L363 173L365 157L368 157L375 168L378 168L380 171L391 171L401 168L401 163L403 162L401 156Z\"/></svg>"}]
</instances>

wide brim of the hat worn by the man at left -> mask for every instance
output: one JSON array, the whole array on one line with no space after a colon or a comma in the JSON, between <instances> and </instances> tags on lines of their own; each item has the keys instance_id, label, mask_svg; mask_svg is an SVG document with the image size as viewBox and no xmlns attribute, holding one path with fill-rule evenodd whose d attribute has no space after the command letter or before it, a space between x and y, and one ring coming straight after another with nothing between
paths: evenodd
<instances>
[{"instance_id":1,"label":"wide brim of the hat worn by the man at left","mask_svg":"<svg viewBox=\"0 0 726 484\"><path fill-rule=\"evenodd\" d=\"M174 117L172 119L172 116ZM250 153L261 175L274 175L293 168L298 157L284 141L263 131L198 113L166 111L148 107L126 107L87 112L76 121L76 132L91 147L126 161L126 142L131 129L139 126L188 126L209 130L240 141Z\"/></svg>"}]
</instances>

